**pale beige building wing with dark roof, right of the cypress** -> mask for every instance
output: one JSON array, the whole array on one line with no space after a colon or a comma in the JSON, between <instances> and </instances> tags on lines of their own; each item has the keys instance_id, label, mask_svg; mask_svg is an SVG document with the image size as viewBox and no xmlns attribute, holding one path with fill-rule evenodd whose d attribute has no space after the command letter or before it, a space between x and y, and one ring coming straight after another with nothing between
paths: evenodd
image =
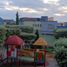
<instances>
[{"instance_id":1,"label":"pale beige building wing with dark roof, right of the cypress","mask_svg":"<svg viewBox=\"0 0 67 67\"><path fill-rule=\"evenodd\" d=\"M20 18L20 25L33 27L34 30L41 29L41 21L40 18Z\"/></svg>"}]
</instances>

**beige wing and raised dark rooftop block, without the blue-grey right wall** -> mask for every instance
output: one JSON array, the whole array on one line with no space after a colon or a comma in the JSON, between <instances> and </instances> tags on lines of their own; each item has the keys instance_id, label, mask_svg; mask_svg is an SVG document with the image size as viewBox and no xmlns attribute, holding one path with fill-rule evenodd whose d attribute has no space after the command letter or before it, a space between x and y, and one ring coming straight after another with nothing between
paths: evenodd
<instances>
[{"instance_id":1,"label":"beige wing and raised dark rooftop block, without the blue-grey right wall","mask_svg":"<svg viewBox=\"0 0 67 67\"><path fill-rule=\"evenodd\" d=\"M20 18L19 25L30 26L33 27L35 31L38 30L40 32L42 21L44 22L48 21L48 16L42 16L41 18L30 17Z\"/></svg>"}]
</instances>

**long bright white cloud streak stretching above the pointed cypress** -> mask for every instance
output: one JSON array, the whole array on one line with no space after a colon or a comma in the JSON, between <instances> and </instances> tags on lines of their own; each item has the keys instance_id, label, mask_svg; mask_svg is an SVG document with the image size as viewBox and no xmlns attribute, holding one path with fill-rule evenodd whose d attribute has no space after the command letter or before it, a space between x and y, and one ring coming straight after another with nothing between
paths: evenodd
<instances>
[{"instance_id":1,"label":"long bright white cloud streak stretching above the pointed cypress","mask_svg":"<svg viewBox=\"0 0 67 67\"><path fill-rule=\"evenodd\" d=\"M4 8L8 11L19 11L21 13L44 13L46 11L48 11L47 8L37 8L37 9L33 9L33 8L25 8L25 7L19 7L19 6L15 6L15 5L11 5L8 2L6 2L6 5L4 6Z\"/></svg>"}]
</instances>

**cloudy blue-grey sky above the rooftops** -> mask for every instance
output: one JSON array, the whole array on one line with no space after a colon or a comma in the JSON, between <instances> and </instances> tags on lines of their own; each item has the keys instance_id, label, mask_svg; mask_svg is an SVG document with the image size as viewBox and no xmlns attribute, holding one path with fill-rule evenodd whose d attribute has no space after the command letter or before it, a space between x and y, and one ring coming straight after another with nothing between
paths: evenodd
<instances>
[{"instance_id":1,"label":"cloudy blue-grey sky above the rooftops","mask_svg":"<svg viewBox=\"0 0 67 67\"><path fill-rule=\"evenodd\" d=\"M0 17L54 17L58 22L67 21L67 0L0 0Z\"/></svg>"}]
</instances>

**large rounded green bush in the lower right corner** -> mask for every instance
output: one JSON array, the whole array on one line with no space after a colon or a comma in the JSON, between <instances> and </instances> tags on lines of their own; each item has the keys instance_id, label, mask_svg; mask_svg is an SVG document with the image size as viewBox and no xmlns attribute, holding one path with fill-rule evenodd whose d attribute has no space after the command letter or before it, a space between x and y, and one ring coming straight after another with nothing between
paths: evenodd
<instances>
[{"instance_id":1,"label":"large rounded green bush in the lower right corner","mask_svg":"<svg viewBox=\"0 0 67 67\"><path fill-rule=\"evenodd\" d=\"M61 67L67 67L67 38L55 42L55 58Z\"/></svg>"}]
</instances>

